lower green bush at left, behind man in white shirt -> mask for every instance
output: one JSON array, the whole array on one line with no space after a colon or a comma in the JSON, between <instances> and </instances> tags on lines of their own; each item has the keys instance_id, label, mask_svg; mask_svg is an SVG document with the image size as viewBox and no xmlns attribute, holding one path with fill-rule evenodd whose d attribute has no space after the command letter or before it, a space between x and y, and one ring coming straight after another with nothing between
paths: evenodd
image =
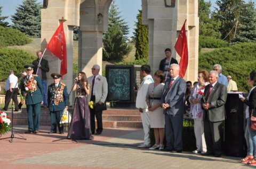
<instances>
[{"instance_id":1,"label":"lower green bush at left, behind man in white shirt","mask_svg":"<svg viewBox=\"0 0 256 169\"><path fill-rule=\"evenodd\" d=\"M9 70L13 70L17 75L24 71L24 65L31 64L35 56L20 49L2 48L0 49L0 81L6 81Z\"/></svg>"}]
</instances>

